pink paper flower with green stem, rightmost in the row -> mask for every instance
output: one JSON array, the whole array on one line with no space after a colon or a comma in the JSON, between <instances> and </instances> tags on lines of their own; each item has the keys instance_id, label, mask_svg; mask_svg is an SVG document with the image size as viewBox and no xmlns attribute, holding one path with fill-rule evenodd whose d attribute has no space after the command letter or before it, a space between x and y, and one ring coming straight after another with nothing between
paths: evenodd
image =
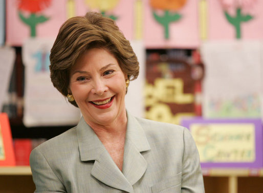
<instances>
[{"instance_id":1,"label":"pink paper flower with green stem, rightmost in the row","mask_svg":"<svg viewBox=\"0 0 263 193\"><path fill-rule=\"evenodd\" d=\"M224 9L225 16L236 31L236 38L241 38L241 23L248 22L253 18L249 12L257 0L220 0Z\"/></svg>"}]
</instances>

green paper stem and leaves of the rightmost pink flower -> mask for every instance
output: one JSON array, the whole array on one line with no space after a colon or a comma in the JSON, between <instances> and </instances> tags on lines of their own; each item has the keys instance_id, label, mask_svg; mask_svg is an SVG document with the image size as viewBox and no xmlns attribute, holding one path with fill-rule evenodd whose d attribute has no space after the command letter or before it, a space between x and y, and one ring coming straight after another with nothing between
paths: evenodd
<instances>
[{"instance_id":1,"label":"green paper stem and leaves of the rightmost pink flower","mask_svg":"<svg viewBox=\"0 0 263 193\"><path fill-rule=\"evenodd\" d=\"M225 11L225 16L228 22L234 26L237 39L241 38L241 23L248 22L250 19L253 18L251 15L243 15L241 8L236 9L235 17L229 15L227 11Z\"/></svg>"}]
</instances>

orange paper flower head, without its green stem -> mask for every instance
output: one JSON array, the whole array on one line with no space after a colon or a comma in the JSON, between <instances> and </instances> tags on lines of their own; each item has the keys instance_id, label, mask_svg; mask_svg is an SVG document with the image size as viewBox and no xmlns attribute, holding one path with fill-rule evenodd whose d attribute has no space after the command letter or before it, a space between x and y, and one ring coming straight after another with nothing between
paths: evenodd
<instances>
[{"instance_id":1,"label":"orange paper flower head, without its green stem","mask_svg":"<svg viewBox=\"0 0 263 193\"><path fill-rule=\"evenodd\" d=\"M150 5L154 9L172 10L181 9L187 0L150 0Z\"/></svg>"}]
</instances>

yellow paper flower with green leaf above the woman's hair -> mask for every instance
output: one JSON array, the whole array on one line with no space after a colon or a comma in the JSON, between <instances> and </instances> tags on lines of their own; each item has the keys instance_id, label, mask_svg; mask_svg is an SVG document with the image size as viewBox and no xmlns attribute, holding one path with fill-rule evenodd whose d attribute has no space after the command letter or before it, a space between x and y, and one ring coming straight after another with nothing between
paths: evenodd
<instances>
[{"instance_id":1,"label":"yellow paper flower with green leaf above the woman's hair","mask_svg":"<svg viewBox=\"0 0 263 193\"><path fill-rule=\"evenodd\" d=\"M103 16L112 18L113 20L116 20L118 17L115 15L108 15L106 12L113 10L118 3L119 0L86 0L87 6L91 9L98 9Z\"/></svg>"}]
</instances>

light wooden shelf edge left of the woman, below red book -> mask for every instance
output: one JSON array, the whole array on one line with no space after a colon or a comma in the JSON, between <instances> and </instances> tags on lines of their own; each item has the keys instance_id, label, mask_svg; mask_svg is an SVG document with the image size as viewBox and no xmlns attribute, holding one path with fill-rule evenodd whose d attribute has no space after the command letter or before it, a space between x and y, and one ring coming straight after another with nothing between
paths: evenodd
<instances>
[{"instance_id":1,"label":"light wooden shelf edge left of the woman, below red book","mask_svg":"<svg viewBox=\"0 0 263 193\"><path fill-rule=\"evenodd\" d=\"M32 175L30 166L0 166L0 175Z\"/></svg>"}]
</instances>

